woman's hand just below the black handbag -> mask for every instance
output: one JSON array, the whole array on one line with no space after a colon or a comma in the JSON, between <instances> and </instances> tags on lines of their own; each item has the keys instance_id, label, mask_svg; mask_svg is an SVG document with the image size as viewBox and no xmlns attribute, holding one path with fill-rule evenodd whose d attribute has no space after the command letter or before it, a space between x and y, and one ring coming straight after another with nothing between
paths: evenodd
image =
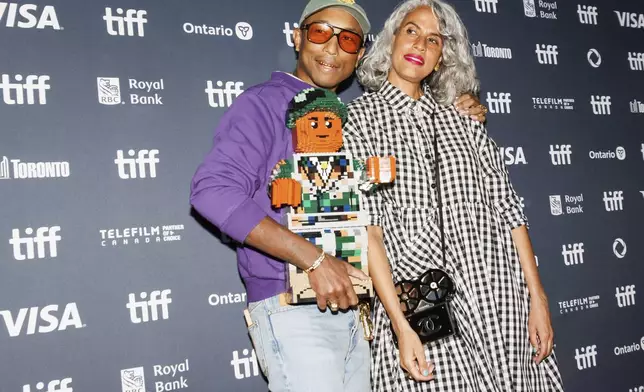
<instances>
[{"instance_id":1,"label":"woman's hand just below the black handbag","mask_svg":"<svg viewBox=\"0 0 644 392\"><path fill-rule=\"evenodd\" d=\"M418 335L407 324L398 337L400 349L400 366L416 381L430 381L434 379L434 364L427 363L425 359L425 346L420 342Z\"/></svg>"}]
</instances>

